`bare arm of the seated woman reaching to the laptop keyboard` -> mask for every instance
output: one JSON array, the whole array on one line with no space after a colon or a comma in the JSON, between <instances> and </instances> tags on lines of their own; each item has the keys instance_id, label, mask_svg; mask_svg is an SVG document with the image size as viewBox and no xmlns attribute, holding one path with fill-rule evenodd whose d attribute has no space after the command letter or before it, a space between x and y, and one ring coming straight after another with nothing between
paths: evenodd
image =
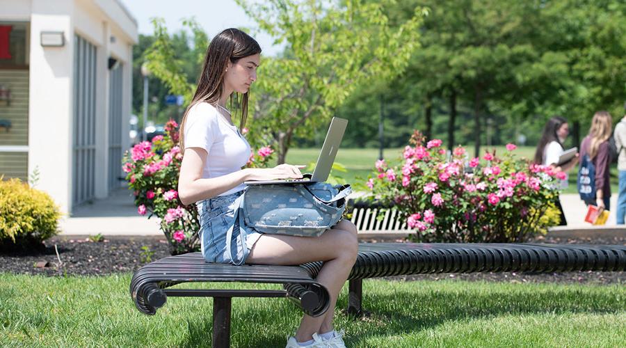
<instances>
[{"instance_id":1,"label":"bare arm of the seated woman reaching to the laptop keyboard","mask_svg":"<svg viewBox=\"0 0 626 348\"><path fill-rule=\"evenodd\" d=\"M178 177L178 196L184 205L220 195L246 180L298 179L298 166L281 164L274 168L245 168L220 177L202 178L207 150L186 148Z\"/></svg>"}]
</instances>

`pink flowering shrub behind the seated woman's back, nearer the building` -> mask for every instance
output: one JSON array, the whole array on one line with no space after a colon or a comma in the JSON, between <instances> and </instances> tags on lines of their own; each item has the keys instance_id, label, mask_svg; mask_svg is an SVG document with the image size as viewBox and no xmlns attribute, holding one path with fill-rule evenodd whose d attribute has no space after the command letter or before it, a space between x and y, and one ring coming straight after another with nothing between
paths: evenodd
<instances>
[{"instance_id":1,"label":"pink flowering shrub behind the seated woman's back, nearer the building","mask_svg":"<svg viewBox=\"0 0 626 348\"><path fill-rule=\"evenodd\" d=\"M166 135L135 145L126 152L122 170L127 173L129 189L134 192L140 215L161 219L161 231L166 236L170 253L177 255L198 251L198 209L195 204L183 205L178 198L178 175L182 153L178 144L178 125L170 120ZM268 146L250 155L248 166L265 166L273 150Z\"/></svg>"}]
</instances>

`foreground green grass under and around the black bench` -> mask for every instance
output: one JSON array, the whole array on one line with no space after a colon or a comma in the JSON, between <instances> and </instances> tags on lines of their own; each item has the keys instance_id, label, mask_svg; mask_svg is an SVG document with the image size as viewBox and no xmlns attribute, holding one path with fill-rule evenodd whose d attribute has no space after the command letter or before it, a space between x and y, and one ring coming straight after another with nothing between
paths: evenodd
<instances>
[{"instance_id":1,"label":"foreground green grass under and around the black bench","mask_svg":"<svg viewBox=\"0 0 626 348\"><path fill-rule=\"evenodd\" d=\"M157 315L147 316L134 308L129 282L128 274L0 274L0 346L211 345L212 301L170 297ZM369 317L352 319L337 310L336 324L348 332L348 347L617 347L626 342L626 288L620 285L366 280L364 295ZM338 308L346 308L346 287ZM284 299L234 299L232 347L280 347L299 318L300 311Z\"/></svg>"}]
</instances>

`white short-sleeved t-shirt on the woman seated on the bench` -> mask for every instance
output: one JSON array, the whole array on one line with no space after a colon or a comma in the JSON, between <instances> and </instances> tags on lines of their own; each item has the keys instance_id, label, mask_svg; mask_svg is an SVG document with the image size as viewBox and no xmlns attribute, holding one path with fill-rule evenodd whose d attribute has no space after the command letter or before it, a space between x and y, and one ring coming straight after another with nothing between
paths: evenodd
<instances>
[{"instance_id":1,"label":"white short-sleeved t-shirt on the woman seated on the bench","mask_svg":"<svg viewBox=\"0 0 626 348\"><path fill-rule=\"evenodd\" d=\"M203 178L220 177L241 170L250 159L250 144L231 125L215 106L202 102L187 113L184 130L185 149L203 148L208 152ZM226 196L246 188L240 184L219 196Z\"/></svg>"}]
</instances>

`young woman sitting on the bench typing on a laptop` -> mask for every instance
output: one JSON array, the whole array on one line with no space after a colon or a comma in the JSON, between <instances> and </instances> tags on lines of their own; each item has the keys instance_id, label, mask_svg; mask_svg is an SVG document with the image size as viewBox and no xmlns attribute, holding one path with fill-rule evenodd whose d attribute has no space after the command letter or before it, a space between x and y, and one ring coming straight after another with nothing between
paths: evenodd
<instances>
[{"instance_id":1,"label":"young woman sitting on the bench typing on a laptop","mask_svg":"<svg viewBox=\"0 0 626 348\"><path fill-rule=\"evenodd\" d=\"M250 85L257 79L261 48L248 34L226 29L209 45L198 89L181 122L180 148L184 157L179 176L183 204L198 204L202 255L208 262L295 265L323 261L317 276L330 292L325 315L305 315L287 347L345 347L343 331L335 331L335 303L355 262L357 230L349 221L320 237L264 235L234 219L234 202L247 180L300 178L299 166L244 168L250 145L241 135L248 113ZM233 96L236 97L233 98ZM240 111L239 129L227 106ZM233 102L234 100L234 102ZM232 239L227 240L227 230ZM227 244L236 246L234 256Z\"/></svg>"}]
</instances>

